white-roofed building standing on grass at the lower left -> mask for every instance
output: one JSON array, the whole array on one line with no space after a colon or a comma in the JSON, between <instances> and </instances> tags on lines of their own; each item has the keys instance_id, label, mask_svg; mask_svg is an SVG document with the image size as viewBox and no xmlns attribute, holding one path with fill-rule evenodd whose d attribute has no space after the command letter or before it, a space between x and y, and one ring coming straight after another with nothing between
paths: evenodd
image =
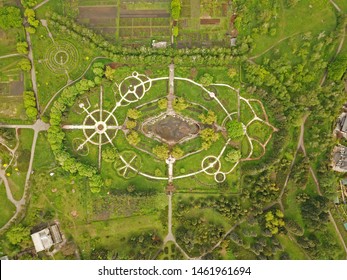
<instances>
[{"instance_id":1,"label":"white-roofed building standing on grass at the lower left","mask_svg":"<svg viewBox=\"0 0 347 280\"><path fill-rule=\"evenodd\" d=\"M53 224L31 235L36 253L48 250L63 241L58 225Z\"/></svg>"}]
</instances>

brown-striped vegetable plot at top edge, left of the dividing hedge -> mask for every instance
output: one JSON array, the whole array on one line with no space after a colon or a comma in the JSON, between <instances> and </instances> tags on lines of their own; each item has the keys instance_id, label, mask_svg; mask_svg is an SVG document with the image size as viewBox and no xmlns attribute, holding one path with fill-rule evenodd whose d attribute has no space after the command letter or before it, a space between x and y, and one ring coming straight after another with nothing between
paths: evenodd
<instances>
[{"instance_id":1,"label":"brown-striped vegetable plot at top edge, left of the dividing hedge","mask_svg":"<svg viewBox=\"0 0 347 280\"><path fill-rule=\"evenodd\" d=\"M170 40L169 1L80 1L78 21L119 44ZM120 39L118 41L118 39Z\"/></svg>"}]
</instances>

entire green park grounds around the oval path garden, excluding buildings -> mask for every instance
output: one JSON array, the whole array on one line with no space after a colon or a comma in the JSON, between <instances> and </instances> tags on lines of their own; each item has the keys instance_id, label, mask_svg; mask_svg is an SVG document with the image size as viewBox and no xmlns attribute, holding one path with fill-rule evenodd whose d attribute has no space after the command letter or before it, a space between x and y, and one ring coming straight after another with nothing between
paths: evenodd
<instances>
[{"instance_id":1,"label":"entire green park grounds around the oval path garden, excluding buildings","mask_svg":"<svg viewBox=\"0 0 347 280\"><path fill-rule=\"evenodd\" d=\"M21 2L0 1L0 257L346 257L341 1Z\"/></svg>"}]
</instances>

